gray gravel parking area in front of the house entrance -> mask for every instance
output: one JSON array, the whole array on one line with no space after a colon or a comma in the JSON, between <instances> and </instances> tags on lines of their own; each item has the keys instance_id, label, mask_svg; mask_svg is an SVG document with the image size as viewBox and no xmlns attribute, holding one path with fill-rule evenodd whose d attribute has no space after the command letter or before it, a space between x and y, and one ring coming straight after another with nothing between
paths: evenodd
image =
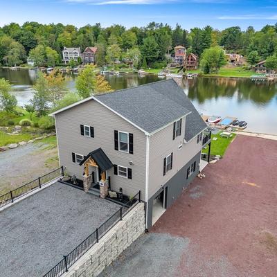
<instances>
[{"instance_id":1,"label":"gray gravel parking area in front of the house entrance","mask_svg":"<svg viewBox=\"0 0 277 277\"><path fill-rule=\"evenodd\" d=\"M120 206L55 183L0 212L0 277L40 277Z\"/></svg>"}]
</instances>

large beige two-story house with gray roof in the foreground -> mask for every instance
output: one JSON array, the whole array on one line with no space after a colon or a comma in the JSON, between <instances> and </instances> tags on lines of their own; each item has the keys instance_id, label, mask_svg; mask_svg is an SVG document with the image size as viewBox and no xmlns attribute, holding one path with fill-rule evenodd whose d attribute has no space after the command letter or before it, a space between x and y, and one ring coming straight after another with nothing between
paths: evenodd
<instances>
[{"instance_id":1,"label":"large beige two-story house with gray roof in the foreground","mask_svg":"<svg viewBox=\"0 0 277 277\"><path fill-rule=\"evenodd\" d=\"M174 80L91 96L52 115L60 165L78 179L93 175L92 186L109 177L111 190L141 190L148 229L199 172L206 123Z\"/></svg>"}]
</instances>

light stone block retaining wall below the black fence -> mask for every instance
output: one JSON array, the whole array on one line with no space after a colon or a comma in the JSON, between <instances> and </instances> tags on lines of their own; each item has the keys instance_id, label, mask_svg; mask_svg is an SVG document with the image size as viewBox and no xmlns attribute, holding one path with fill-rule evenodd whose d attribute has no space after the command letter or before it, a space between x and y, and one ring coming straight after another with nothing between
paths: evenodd
<instances>
[{"instance_id":1,"label":"light stone block retaining wall below the black fence","mask_svg":"<svg viewBox=\"0 0 277 277\"><path fill-rule=\"evenodd\" d=\"M62 277L96 277L145 231L144 203L132 208Z\"/></svg>"}]
</instances>

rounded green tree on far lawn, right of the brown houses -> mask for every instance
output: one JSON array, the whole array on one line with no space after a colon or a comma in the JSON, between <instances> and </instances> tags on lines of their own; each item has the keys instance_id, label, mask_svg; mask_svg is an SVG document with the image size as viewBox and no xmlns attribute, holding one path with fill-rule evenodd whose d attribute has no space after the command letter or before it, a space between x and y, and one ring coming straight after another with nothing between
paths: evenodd
<instances>
[{"instance_id":1,"label":"rounded green tree on far lawn, right of the brown houses","mask_svg":"<svg viewBox=\"0 0 277 277\"><path fill-rule=\"evenodd\" d=\"M204 73L217 73L226 64L224 51L219 46L204 50L200 66Z\"/></svg>"}]
</instances>

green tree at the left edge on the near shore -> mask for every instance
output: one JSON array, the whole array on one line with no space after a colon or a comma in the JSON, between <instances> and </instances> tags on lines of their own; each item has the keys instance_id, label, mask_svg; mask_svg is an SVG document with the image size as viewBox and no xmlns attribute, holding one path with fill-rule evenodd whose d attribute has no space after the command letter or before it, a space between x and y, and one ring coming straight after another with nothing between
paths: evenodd
<instances>
[{"instance_id":1,"label":"green tree at the left edge on the near shore","mask_svg":"<svg viewBox=\"0 0 277 277\"><path fill-rule=\"evenodd\" d=\"M10 94L10 82L4 78L0 79L0 108L12 112L17 106L17 98Z\"/></svg>"}]
</instances>

